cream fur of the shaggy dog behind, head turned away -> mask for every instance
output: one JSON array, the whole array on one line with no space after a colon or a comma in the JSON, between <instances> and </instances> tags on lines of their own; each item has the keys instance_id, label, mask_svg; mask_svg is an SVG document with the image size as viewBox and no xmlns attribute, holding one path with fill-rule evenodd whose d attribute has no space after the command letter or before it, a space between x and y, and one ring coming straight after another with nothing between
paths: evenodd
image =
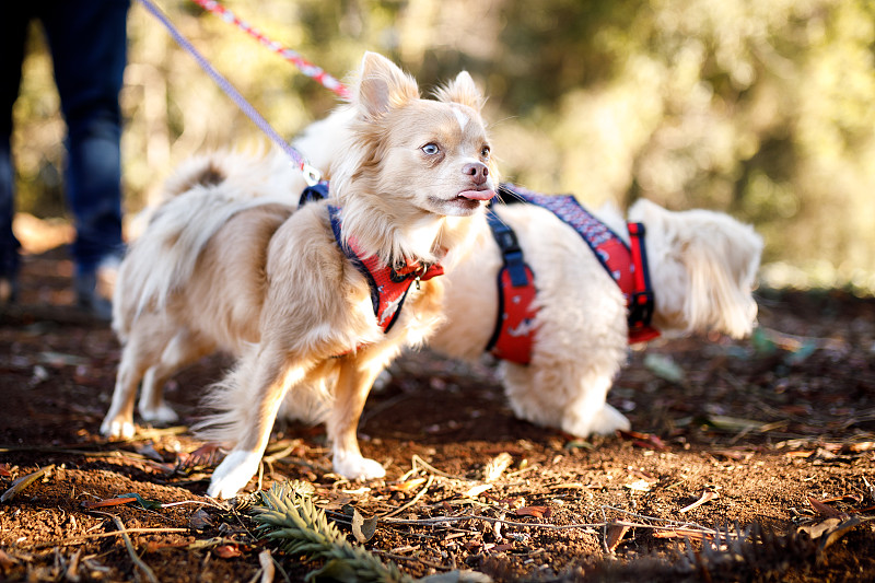
<instances>
[{"instance_id":1,"label":"cream fur of the shaggy dog behind, head turned away","mask_svg":"<svg viewBox=\"0 0 875 583\"><path fill-rule=\"evenodd\" d=\"M346 129L342 114L319 121L300 141L311 160L327 167L330 148ZM336 143L336 142L335 142ZM532 363L500 363L514 412L535 423L586 436L628 429L629 421L605 403L627 359L625 300L598 260L570 226L547 210L497 206L517 234L538 289L537 335ZM620 212L598 212L628 237ZM640 200L628 219L643 222L655 293L653 323L666 336L718 331L750 333L757 306L751 291L762 242L754 230L725 213L670 212ZM498 316L497 277L501 254L488 226L478 224L467 255L446 278L446 323L430 339L440 352L479 358ZM294 415L293 408L289 411Z\"/></svg>"}]
</instances>

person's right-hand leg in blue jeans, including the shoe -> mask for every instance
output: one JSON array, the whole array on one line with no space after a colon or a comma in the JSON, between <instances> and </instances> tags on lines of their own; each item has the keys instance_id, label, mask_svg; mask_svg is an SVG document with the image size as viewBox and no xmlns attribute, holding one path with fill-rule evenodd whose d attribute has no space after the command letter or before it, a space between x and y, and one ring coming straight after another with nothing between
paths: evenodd
<instances>
[{"instance_id":1,"label":"person's right-hand leg in blue jeans, including the shoe","mask_svg":"<svg viewBox=\"0 0 875 583\"><path fill-rule=\"evenodd\" d=\"M122 253L118 94L127 10L127 0L93 0L58 2L43 14L68 126L65 186L77 228L75 291L80 303L106 318L109 290L97 287L107 271L114 275Z\"/></svg>"}]
</instances>

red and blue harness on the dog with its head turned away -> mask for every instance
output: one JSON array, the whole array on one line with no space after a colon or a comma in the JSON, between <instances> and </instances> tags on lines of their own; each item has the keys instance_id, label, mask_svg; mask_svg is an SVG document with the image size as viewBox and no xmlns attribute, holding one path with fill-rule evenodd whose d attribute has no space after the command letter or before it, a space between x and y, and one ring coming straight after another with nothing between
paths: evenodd
<instances>
[{"instance_id":1,"label":"red and blue harness on the dog with its head turned away","mask_svg":"<svg viewBox=\"0 0 875 583\"><path fill-rule=\"evenodd\" d=\"M581 235L626 296L630 343L645 342L660 336L660 331L651 326L654 301L643 224L627 223L630 242L627 245L572 196L545 196L510 185L502 185L500 194L509 201L523 200L546 208ZM535 278L523 260L513 230L491 211L489 224L502 250L504 267L499 272L499 318L487 351L503 360L528 364L537 314Z\"/></svg>"}]
</instances>

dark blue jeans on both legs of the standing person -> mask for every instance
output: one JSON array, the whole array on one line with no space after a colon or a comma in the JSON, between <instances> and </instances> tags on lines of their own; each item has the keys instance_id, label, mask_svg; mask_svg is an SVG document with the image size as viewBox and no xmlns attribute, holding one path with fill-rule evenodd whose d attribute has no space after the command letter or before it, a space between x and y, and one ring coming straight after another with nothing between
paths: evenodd
<instances>
[{"instance_id":1,"label":"dark blue jeans on both legs of the standing person","mask_svg":"<svg viewBox=\"0 0 875 583\"><path fill-rule=\"evenodd\" d=\"M121 113L118 93L127 60L129 0L24 0L0 16L0 276L14 276L19 242L12 234L14 172L12 105L21 85L27 24L39 19L48 38L55 82L67 121L67 205L80 273L121 243Z\"/></svg>"}]
</instances>

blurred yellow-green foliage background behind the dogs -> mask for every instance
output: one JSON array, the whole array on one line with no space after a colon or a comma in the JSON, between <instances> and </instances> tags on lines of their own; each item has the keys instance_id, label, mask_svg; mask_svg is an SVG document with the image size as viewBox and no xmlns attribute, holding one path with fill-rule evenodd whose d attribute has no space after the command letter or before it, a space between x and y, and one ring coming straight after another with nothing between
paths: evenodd
<instances>
[{"instance_id":1,"label":"blurred yellow-green foliage background behind the dogs","mask_svg":"<svg viewBox=\"0 0 875 583\"><path fill-rule=\"evenodd\" d=\"M159 0L284 136L337 102L220 19ZM875 290L871 0L228 0L340 77L365 49L423 88L468 69L503 174L591 206L646 197L752 222L775 284ZM264 138L136 0L122 105L133 214L191 154ZM63 213L63 123L34 26L16 103L19 209Z\"/></svg>"}]
</instances>

